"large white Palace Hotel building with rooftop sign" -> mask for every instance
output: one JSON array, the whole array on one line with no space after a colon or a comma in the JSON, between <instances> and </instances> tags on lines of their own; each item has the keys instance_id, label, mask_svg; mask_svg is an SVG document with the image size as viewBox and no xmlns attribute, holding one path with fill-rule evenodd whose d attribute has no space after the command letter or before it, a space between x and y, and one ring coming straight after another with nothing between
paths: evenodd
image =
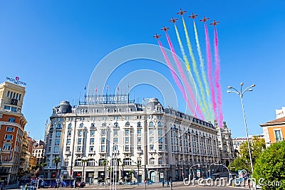
<instances>
[{"instance_id":1,"label":"large white Palace Hotel building with rooftop sign","mask_svg":"<svg viewBox=\"0 0 285 190\"><path fill-rule=\"evenodd\" d=\"M209 164L219 161L211 123L164 108L156 98L140 105L128 95L86 97L76 107L67 101L53 107L45 154L45 176L56 176L53 159L60 157L58 176L87 182L110 177L116 158L118 181L182 179L194 164L205 176Z\"/></svg>"}]
</instances>

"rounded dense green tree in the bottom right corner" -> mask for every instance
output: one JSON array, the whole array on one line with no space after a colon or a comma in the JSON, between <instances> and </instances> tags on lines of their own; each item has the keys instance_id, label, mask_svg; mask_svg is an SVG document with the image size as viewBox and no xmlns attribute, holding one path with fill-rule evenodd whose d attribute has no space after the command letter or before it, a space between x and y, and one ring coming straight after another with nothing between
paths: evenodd
<instances>
[{"instance_id":1,"label":"rounded dense green tree in the bottom right corner","mask_svg":"<svg viewBox=\"0 0 285 190\"><path fill-rule=\"evenodd\" d=\"M284 158L285 141L282 141L271 144L257 159L254 165L254 179L257 180L257 184L263 185L262 189L285 189Z\"/></svg>"}]
</instances>

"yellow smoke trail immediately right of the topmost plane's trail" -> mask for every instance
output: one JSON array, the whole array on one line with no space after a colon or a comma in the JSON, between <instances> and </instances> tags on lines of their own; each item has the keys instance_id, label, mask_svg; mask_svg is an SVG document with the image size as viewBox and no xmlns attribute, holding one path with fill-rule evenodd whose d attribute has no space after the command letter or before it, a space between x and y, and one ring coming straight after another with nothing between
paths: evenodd
<instances>
[{"instance_id":1,"label":"yellow smoke trail immediately right of the topmost plane's trail","mask_svg":"<svg viewBox=\"0 0 285 190\"><path fill-rule=\"evenodd\" d=\"M208 81L207 81L207 75L206 75L206 71L205 71L205 68L204 68L204 59L203 59L203 56L202 56L202 51L201 51L201 47L200 47L200 43L199 43L199 36L198 36L198 33L197 33L197 28L196 28L196 24L195 24L195 21L193 20L193 25L194 25L194 31L195 31L195 40L196 40L196 46L197 46L197 52L198 52L198 55L199 55L199 62L200 62L200 68L201 68L201 73L202 73L202 80L203 80L203 83L204 83L204 88L206 90L206 94L207 94L207 102L209 104L209 114L210 114L210 120L214 120L214 114L212 112L212 102L210 100L210 93L209 93L209 84L208 84Z\"/></svg>"}]
</instances>

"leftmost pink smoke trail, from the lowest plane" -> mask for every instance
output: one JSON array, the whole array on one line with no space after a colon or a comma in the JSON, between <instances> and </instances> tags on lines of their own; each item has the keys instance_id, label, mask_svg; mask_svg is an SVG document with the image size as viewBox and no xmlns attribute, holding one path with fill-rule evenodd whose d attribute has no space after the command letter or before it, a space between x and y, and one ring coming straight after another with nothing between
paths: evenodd
<instances>
[{"instance_id":1,"label":"leftmost pink smoke trail, from the lowest plane","mask_svg":"<svg viewBox=\"0 0 285 190\"><path fill-rule=\"evenodd\" d=\"M195 110L194 110L193 107L191 106L189 100L187 100L187 96L186 96L185 90L184 90L184 88L182 87L182 85L180 84L180 80L177 78L177 75L175 74L175 72L174 72L174 70L173 70L173 68L172 68L172 65L171 65L171 63L170 63L170 60L169 60L169 58L167 57L167 55L166 55L166 53L165 53L165 50L164 50L162 44L160 43L160 40L157 39L157 41L158 41L158 44L160 45L160 49L161 49L161 51L162 51L163 57L165 58L165 61L166 61L167 65L168 65L168 67L170 68L170 72L171 72L172 78L175 80L175 83L176 83L176 85L178 86L178 88L180 89L180 91L181 91L181 93L182 93L182 96L183 96L184 100L187 102L187 105L188 105L188 107L190 108L191 112L193 113L193 115L195 115Z\"/></svg>"}]
</instances>

